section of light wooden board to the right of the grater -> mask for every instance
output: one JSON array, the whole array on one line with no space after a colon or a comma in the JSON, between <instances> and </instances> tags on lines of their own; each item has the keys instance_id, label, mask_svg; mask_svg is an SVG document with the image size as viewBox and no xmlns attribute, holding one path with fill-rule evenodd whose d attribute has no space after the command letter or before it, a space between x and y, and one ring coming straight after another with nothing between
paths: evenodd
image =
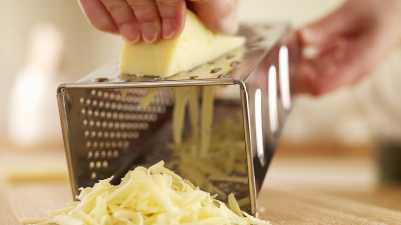
<instances>
[{"instance_id":1,"label":"section of light wooden board to the right of the grater","mask_svg":"<svg viewBox=\"0 0 401 225\"><path fill-rule=\"evenodd\" d=\"M272 224L400 224L401 212L316 192L265 190L260 217Z\"/></svg>"}]
</instances>

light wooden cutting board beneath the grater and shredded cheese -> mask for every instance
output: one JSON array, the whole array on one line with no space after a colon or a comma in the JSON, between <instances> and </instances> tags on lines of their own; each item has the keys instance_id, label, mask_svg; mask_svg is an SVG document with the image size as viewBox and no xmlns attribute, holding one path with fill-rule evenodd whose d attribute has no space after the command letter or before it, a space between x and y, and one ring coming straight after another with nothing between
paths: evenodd
<instances>
[{"instance_id":1,"label":"light wooden cutting board beneath the grater and shredded cheese","mask_svg":"<svg viewBox=\"0 0 401 225\"><path fill-rule=\"evenodd\" d=\"M3 185L0 191L0 225L47 216L72 200L68 182ZM260 217L272 224L401 224L401 212L310 190L265 188L258 204Z\"/></svg>"}]
</instances>

